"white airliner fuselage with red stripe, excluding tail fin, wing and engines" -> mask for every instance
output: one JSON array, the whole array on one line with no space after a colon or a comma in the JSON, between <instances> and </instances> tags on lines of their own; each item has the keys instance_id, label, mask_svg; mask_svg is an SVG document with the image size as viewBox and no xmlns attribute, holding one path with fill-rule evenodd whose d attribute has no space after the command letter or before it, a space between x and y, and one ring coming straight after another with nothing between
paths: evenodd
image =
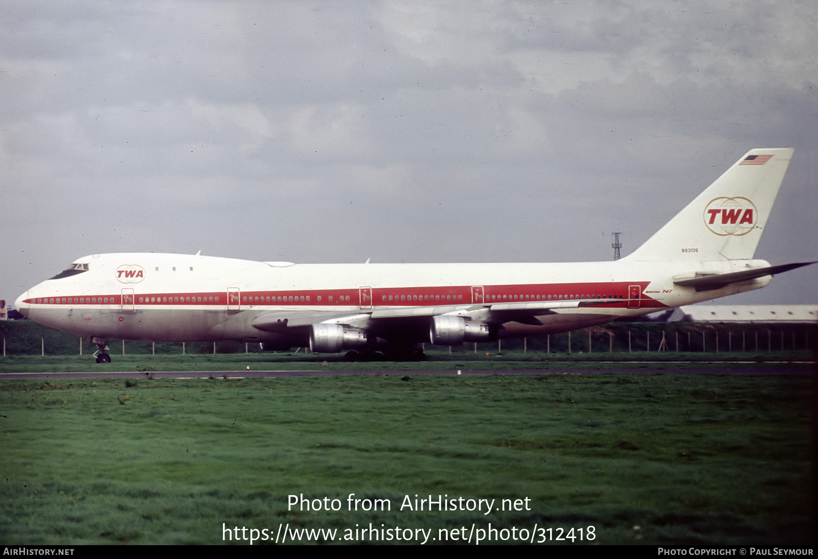
<instances>
[{"instance_id":1,"label":"white airliner fuselage with red stripe, excluding tail fin, wing and engines","mask_svg":"<svg viewBox=\"0 0 818 559\"><path fill-rule=\"evenodd\" d=\"M263 313L308 315L313 323L371 329L389 342L428 341L429 314L584 306L529 312L502 320L501 335L568 331L645 315L766 285L770 276L697 293L674 278L702 270L727 273L764 261L578 262L506 264L292 264L163 253L83 257L73 275L47 279L20 296L18 310L56 329L94 338L195 342L258 341L307 345L303 328L259 329ZM65 272L64 272L65 274ZM599 304L595 304L599 301ZM561 304L561 303L559 303ZM440 312L411 313L429 307ZM389 311L401 318L372 317ZM513 319L513 316L506 316ZM523 324L527 323L527 324ZM294 324L294 323L290 323Z\"/></svg>"}]
</instances>

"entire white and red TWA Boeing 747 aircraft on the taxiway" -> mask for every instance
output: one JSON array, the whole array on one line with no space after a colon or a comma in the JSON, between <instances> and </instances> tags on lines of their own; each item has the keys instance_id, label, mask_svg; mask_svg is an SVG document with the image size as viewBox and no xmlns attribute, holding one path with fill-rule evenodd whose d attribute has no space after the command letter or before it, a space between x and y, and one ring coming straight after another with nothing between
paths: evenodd
<instances>
[{"instance_id":1,"label":"entire white and red TWA Boeing 747 aircraft on the taxiway","mask_svg":"<svg viewBox=\"0 0 818 559\"><path fill-rule=\"evenodd\" d=\"M754 260L793 150L751 150L645 244L615 262L294 264L186 254L94 254L16 309L87 336L260 342L266 349L411 356L421 342L567 332L762 288L806 266Z\"/></svg>"}]
</instances>

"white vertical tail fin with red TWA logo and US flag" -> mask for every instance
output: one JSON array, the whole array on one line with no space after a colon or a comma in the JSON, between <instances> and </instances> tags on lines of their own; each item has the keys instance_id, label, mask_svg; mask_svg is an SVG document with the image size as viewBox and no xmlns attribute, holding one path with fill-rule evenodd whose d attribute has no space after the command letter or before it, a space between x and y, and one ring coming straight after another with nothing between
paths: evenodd
<instances>
[{"instance_id":1,"label":"white vertical tail fin with red TWA logo and US flag","mask_svg":"<svg viewBox=\"0 0 818 559\"><path fill-rule=\"evenodd\" d=\"M627 260L753 258L793 150L750 150Z\"/></svg>"}]
</instances>

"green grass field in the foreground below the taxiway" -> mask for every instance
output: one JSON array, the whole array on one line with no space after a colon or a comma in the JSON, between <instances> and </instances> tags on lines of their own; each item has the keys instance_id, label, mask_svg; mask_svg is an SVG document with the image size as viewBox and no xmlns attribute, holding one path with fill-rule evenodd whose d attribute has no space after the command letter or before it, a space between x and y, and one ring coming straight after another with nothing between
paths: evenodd
<instances>
[{"instance_id":1,"label":"green grass field in the foreground below the taxiway","mask_svg":"<svg viewBox=\"0 0 818 559\"><path fill-rule=\"evenodd\" d=\"M431 530L429 543L439 530L490 526L507 543L521 530L537 542L811 543L812 382L616 372L7 380L0 543L222 543L223 525L273 539L279 525L337 530L338 541L370 524ZM340 510L288 508L302 494ZM359 510L349 494L364 499ZM401 510L407 495L519 499L522 510ZM377 503L390 510L360 510Z\"/></svg>"}]
</instances>

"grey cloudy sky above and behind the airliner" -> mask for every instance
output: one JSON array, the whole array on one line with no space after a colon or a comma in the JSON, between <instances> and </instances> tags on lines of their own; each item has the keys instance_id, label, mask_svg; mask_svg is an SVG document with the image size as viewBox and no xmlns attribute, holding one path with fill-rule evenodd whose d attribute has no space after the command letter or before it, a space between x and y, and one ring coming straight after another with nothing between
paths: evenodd
<instances>
[{"instance_id":1,"label":"grey cloudy sky above and behind the airliner","mask_svg":"<svg viewBox=\"0 0 818 559\"><path fill-rule=\"evenodd\" d=\"M816 29L811 0L6 0L0 298L91 253L609 260L755 147L795 148L757 257L816 259Z\"/></svg>"}]
</instances>

